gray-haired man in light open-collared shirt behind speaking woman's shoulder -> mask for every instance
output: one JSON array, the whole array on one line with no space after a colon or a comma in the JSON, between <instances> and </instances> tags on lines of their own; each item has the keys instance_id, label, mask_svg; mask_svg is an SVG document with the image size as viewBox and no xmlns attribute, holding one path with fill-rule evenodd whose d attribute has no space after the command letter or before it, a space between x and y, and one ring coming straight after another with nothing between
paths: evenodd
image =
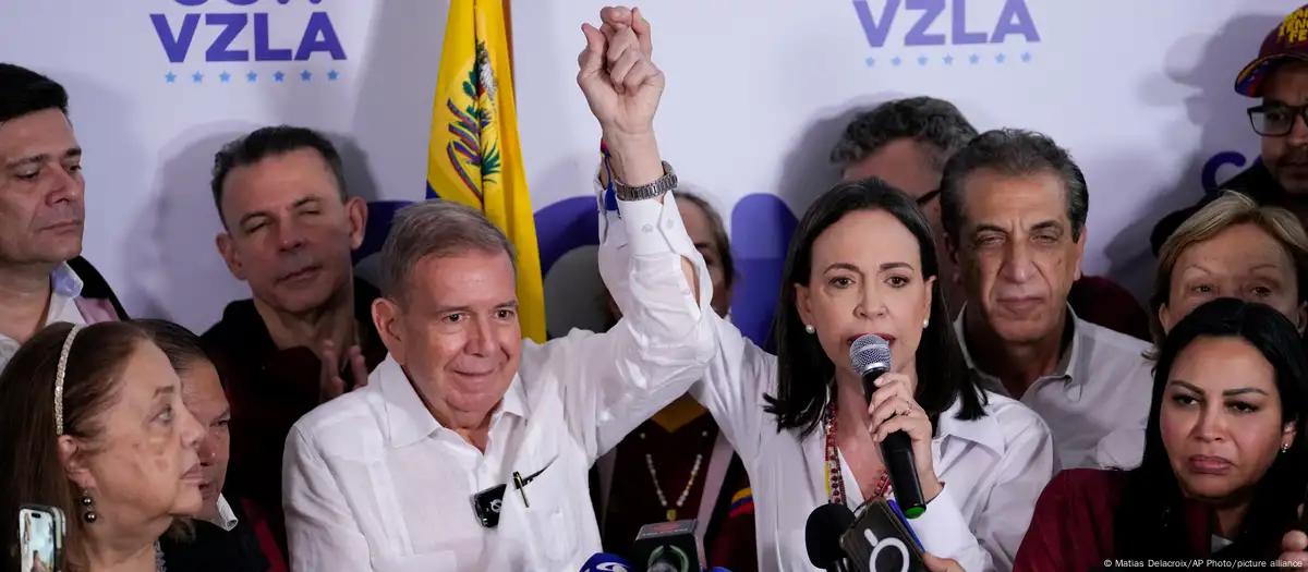
<instances>
[{"instance_id":1,"label":"gray-haired man in light open-collared shirt behind speaking woman's shoulder","mask_svg":"<svg viewBox=\"0 0 1308 572\"><path fill-rule=\"evenodd\" d=\"M946 165L940 215L967 302L955 321L981 385L1039 413L1062 468L1143 454L1152 371L1144 341L1067 304L1086 249L1090 192L1049 137L982 133Z\"/></svg>"}]
</instances>

